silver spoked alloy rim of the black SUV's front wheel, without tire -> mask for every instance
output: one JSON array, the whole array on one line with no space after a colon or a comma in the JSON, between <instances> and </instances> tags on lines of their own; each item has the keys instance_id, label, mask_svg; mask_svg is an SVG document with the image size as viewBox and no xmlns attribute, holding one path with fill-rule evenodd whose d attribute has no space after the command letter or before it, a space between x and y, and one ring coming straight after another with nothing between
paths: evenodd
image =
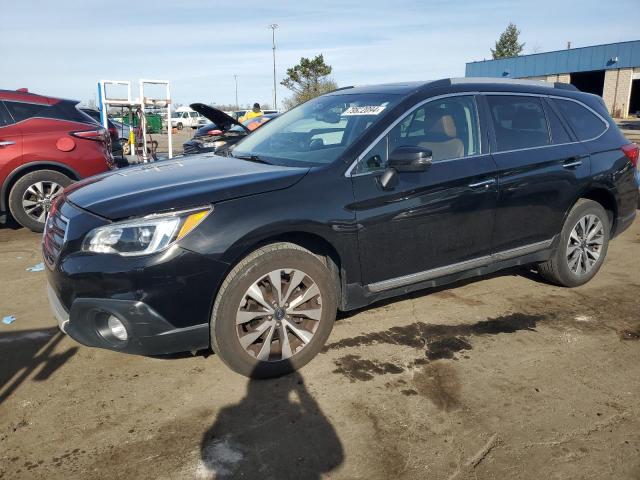
<instances>
[{"instance_id":1,"label":"silver spoked alloy rim of the black SUV's front wheel, without tire","mask_svg":"<svg viewBox=\"0 0 640 480\"><path fill-rule=\"evenodd\" d=\"M305 348L322 318L322 295L305 272L279 269L254 282L236 314L242 348L265 362L285 360Z\"/></svg>"}]
</instances>

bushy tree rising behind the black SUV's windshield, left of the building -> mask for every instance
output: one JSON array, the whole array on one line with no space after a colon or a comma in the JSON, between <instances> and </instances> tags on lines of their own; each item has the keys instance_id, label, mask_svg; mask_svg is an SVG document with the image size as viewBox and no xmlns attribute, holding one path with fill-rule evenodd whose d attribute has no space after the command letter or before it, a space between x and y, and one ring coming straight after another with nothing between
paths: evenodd
<instances>
[{"instance_id":1,"label":"bushy tree rising behind the black SUV's windshield, left of the building","mask_svg":"<svg viewBox=\"0 0 640 480\"><path fill-rule=\"evenodd\" d=\"M293 96L285 100L285 107L295 107L338 88L336 82L329 78L331 71L331 65L324 62L322 54L312 59L302 57L299 64L287 69L287 78L280 82L293 92Z\"/></svg>"}]
</instances>

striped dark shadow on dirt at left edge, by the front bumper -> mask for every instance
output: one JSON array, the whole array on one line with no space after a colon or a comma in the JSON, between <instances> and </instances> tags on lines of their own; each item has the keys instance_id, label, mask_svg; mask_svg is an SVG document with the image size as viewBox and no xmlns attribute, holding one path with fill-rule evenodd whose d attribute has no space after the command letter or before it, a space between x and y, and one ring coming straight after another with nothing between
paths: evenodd
<instances>
[{"instance_id":1,"label":"striped dark shadow on dirt at left edge, by the front bumper","mask_svg":"<svg viewBox=\"0 0 640 480\"><path fill-rule=\"evenodd\" d=\"M55 327L0 333L0 405L36 370L34 381L47 380L76 354L78 347L53 353L63 338Z\"/></svg>"}]
</instances>

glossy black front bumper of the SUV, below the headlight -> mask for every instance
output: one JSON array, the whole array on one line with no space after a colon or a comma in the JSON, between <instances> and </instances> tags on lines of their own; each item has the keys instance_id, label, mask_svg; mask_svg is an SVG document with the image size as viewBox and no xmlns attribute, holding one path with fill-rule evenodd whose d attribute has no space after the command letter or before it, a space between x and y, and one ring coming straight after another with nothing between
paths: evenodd
<instances>
[{"instance_id":1,"label":"glossy black front bumper of the SUV, below the headlight","mask_svg":"<svg viewBox=\"0 0 640 480\"><path fill-rule=\"evenodd\" d=\"M141 355L209 347L211 309L228 265L177 245L145 257L85 253L84 234L106 221L68 203L61 214L65 243L45 264L62 331L87 346ZM111 315L126 328L126 341L106 330Z\"/></svg>"}]
</instances>

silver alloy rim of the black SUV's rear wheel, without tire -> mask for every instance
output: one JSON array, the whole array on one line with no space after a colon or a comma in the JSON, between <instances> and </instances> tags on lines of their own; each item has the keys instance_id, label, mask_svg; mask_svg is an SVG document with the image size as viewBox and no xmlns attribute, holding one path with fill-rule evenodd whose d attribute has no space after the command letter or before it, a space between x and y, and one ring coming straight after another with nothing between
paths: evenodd
<instances>
[{"instance_id":1,"label":"silver alloy rim of the black SUV's rear wheel, without tire","mask_svg":"<svg viewBox=\"0 0 640 480\"><path fill-rule=\"evenodd\" d=\"M596 215L580 218L567 242L567 265L574 274L586 275L593 270L602 253L604 226Z\"/></svg>"}]
</instances>

